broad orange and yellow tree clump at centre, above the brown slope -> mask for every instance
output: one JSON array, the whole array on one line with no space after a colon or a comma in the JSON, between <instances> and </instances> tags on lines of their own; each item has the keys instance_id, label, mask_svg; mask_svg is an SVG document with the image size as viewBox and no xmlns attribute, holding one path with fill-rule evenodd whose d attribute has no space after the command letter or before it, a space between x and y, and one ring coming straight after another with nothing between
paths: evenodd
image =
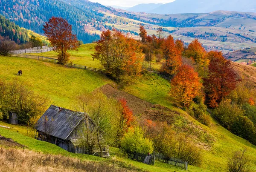
<instances>
[{"instance_id":1,"label":"broad orange and yellow tree clump at centre, above the brown slope","mask_svg":"<svg viewBox=\"0 0 256 172\"><path fill-rule=\"evenodd\" d=\"M92 54L93 60L99 60L113 79L128 80L142 71L143 54L139 45L137 40L117 30L103 31Z\"/></svg>"}]
</instances>

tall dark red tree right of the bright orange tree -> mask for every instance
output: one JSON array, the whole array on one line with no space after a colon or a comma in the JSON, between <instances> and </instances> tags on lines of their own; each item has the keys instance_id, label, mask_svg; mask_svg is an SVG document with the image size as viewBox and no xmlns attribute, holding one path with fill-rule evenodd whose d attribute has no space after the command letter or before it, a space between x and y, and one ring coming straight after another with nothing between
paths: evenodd
<instances>
[{"instance_id":1,"label":"tall dark red tree right of the bright orange tree","mask_svg":"<svg viewBox=\"0 0 256 172\"><path fill-rule=\"evenodd\" d=\"M223 97L236 88L238 80L230 60L225 59L219 52L211 52L210 57L209 74L204 78L204 87L207 104L215 108Z\"/></svg>"}]
</instances>

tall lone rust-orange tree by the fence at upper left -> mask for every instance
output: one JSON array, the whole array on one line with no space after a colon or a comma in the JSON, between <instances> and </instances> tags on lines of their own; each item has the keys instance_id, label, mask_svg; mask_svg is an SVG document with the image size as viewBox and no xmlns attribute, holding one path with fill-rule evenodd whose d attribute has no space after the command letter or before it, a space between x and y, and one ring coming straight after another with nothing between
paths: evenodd
<instances>
[{"instance_id":1,"label":"tall lone rust-orange tree by the fence at upper left","mask_svg":"<svg viewBox=\"0 0 256 172\"><path fill-rule=\"evenodd\" d=\"M44 25L44 35L58 52L58 63L65 63L69 60L70 51L78 48L76 34L72 34L72 26L66 19L61 17L51 17Z\"/></svg>"}]
</instances>

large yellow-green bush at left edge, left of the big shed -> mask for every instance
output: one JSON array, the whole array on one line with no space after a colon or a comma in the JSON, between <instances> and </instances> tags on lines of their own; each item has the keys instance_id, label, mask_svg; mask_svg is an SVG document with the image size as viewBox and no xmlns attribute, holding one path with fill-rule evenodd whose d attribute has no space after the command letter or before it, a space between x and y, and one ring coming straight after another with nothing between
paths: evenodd
<instances>
[{"instance_id":1,"label":"large yellow-green bush at left edge, left of the big shed","mask_svg":"<svg viewBox=\"0 0 256 172\"><path fill-rule=\"evenodd\" d=\"M27 86L17 81L6 83L0 81L0 112L3 120L7 119L8 112L15 112L18 123L33 125L39 115L42 115L48 98L29 91Z\"/></svg>"}]
</instances>

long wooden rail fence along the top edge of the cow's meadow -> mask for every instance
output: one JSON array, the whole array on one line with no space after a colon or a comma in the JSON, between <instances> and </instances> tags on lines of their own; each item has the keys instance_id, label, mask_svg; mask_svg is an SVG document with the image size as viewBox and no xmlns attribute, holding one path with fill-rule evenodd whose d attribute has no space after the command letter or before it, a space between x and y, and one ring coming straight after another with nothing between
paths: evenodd
<instances>
[{"instance_id":1,"label":"long wooden rail fence along the top edge of the cow's meadow","mask_svg":"<svg viewBox=\"0 0 256 172\"><path fill-rule=\"evenodd\" d=\"M44 56L33 56L33 55L27 55L27 54L26 55L25 54L12 54L11 56L13 56L13 57L25 57L25 58L49 61L49 62L52 62L52 63L58 63L58 59L50 58L50 57L44 57ZM64 65L68 66L68 67L72 67L72 68L86 69L86 70L90 70L90 71L93 71L93 72L105 73L105 70L92 68L92 67L88 67L88 66L83 66L83 65L79 65L79 64L64 63Z\"/></svg>"}]
</instances>

